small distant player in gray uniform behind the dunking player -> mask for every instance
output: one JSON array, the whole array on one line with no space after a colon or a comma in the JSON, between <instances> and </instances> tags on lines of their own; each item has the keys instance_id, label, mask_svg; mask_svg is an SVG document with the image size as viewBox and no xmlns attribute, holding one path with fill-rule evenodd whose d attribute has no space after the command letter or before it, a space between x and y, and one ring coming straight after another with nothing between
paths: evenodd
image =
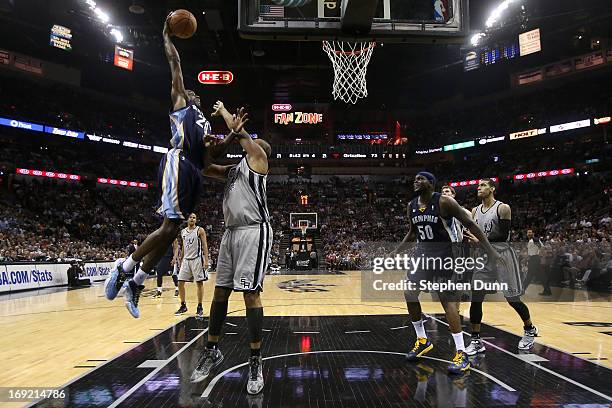
<instances>
[{"instance_id":1,"label":"small distant player in gray uniform behind the dunking player","mask_svg":"<svg viewBox=\"0 0 612 408\"><path fill-rule=\"evenodd\" d=\"M181 298L181 307L175 314L187 313L185 282L194 280L198 287L196 318L202 319L204 318L204 309L202 308L204 281L208 280L208 243L206 242L206 232L204 232L204 228L196 225L197 221L198 217L195 214L189 214L187 227L183 228L178 240L180 247L179 297Z\"/></svg>"}]
</instances>

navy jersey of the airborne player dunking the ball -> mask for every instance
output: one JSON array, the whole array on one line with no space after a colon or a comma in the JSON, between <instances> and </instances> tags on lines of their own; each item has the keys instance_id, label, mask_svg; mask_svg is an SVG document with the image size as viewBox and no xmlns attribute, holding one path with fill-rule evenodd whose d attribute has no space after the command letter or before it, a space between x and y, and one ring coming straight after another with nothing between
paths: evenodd
<instances>
[{"instance_id":1,"label":"navy jersey of the airborne player dunking the ball","mask_svg":"<svg viewBox=\"0 0 612 408\"><path fill-rule=\"evenodd\" d=\"M204 137L211 133L210 122L192 102L170 113L172 139L170 145L183 151L185 157L198 169L204 165Z\"/></svg>"}]
</instances>

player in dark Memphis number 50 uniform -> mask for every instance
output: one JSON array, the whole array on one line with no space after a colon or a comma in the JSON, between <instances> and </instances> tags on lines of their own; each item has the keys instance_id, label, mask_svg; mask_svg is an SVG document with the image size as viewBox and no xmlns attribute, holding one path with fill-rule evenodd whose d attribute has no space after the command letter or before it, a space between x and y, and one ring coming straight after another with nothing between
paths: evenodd
<instances>
[{"instance_id":1,"label":"player in dark Memphis number 50 uniform","mask_svg":"<svg viewBox=\"0 0 612 408\"><path fill-rule=\"evenodd\" d=\"M418 193L418 197L413 199L408 205L410 230L400 246L395 250L395 253L401 253L408 247L409 242L416 240L416 255L418 256L422 255L423 258L430 259L453 258L452 243L457 242L457 236L450 229L450 223L452 218L456 218L476 237L479 237L480 242L490 257L497 258L498 255L491 244L489 244L484 232L453 198L434 192L435 184L436 178L429 172L420 172L414 178L414 191ZM412 275L409 275L408 280L415 282L417 287L419 282L423 280L428 282L452 281L454 274L452 269L445 270L443 268L440 268L440 270L420 268L413 272ZM408 353L409 361L416 361L419 357L433 349L433 344L427 338L423 325L421 304L418 300L419 293L419 289L407 290L405 292L408 312L410 313L410 318L417 335L414 348ZM448 371L458 374L469 370L470 362L467 354L464 352L465 346L461 332L457 294L452 291L441 291L438 294L440 296L440 303L442 303L446 312L446 319L448 320L457 350L453 363L448 366Z\"/></svg>"}]
</instances>

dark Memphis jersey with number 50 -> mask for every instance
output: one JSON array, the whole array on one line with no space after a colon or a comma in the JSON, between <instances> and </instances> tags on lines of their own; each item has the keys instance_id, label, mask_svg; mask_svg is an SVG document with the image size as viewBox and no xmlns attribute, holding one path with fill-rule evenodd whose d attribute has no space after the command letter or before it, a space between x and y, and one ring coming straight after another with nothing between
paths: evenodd
<instances>
[{"instance_id":1,"label":"dark Memphis jersey with number 50","mask_svg":"<svg viewBox=\"0 0 612 408\"><path fill-rule=\"evenodd\" d=\"M424 242L459 242L453 218L440 215L440 193L433 193L427 207L419 205L419 198L410 202L410 219L416 230L418 243Z\"/></svg>"}]
</instances>

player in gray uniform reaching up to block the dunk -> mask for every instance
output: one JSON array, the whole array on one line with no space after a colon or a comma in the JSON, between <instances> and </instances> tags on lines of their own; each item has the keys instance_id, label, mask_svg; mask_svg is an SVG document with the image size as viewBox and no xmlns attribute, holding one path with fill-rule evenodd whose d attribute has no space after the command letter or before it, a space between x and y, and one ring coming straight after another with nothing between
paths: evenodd
<instances>
[{"instance_id":1,"label":"player in gray uniform reaching up to block the dunk","mask_svg":"<svg viewBox=\"0 0 612 408\"><path fill-rule=\"evenodd\" d=\"M223 116L232 132L242 129L241 114L232 121L222 103L218 102L216 106L218 114ZM246 152L240 163L234 166L211 165L204 173L226 181L223 216L227 229L219 248L208 342L191 378L194 382L204 380L223 361L217 345L227 316L228 299L232 291L243 292L251 348L247 392L254 395L261 392L264 386L261 369L263 306L260 292L263 290L272 249L272 227L266 198L271 148L261 139L253 141L244 130L235 134L235 137Z\"/></svg>"}]
</instances>

